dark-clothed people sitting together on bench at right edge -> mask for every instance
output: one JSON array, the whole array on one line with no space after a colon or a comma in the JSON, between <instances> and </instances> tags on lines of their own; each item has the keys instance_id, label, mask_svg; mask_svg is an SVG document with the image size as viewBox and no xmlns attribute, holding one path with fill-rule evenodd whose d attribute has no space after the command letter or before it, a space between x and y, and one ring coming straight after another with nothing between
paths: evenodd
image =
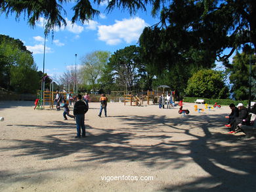
<instances>
[{"instance_id":1,"label":"dark-clothed people sitting together on bench at right edge","mask_svg":"<svg viewBox=\"0 0 256 192\"><path fill-rule=\"evenodd\" d=\"M238 106L235 106L234 104L229 105L231 109L231 113L228 116L225 116L225 118L228 119L228 123L225 125L229 129L229 133L236 133L238 125L247 124L250 122L249 119L249 112L256 113L255 106L253 106L251 109L247 109L242 103L238 104Z\"/></svg>"}]
</instances>

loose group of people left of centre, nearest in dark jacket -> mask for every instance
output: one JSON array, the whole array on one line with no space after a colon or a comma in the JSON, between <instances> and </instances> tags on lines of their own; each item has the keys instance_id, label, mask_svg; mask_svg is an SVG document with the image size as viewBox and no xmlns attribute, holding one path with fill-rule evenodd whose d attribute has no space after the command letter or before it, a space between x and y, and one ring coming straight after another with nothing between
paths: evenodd
<instances>
[{"instance_id":1,"label":"loose group of people left of centre, nearest in dark jacket","mask_svg":"<svg viewBox=\"0 0 256 192\"><path fill-rule=\"evenodd\" d=\"M76 123L76 128L77 128L77 135L75 138L81 138L85 137L85 113L87 113L89 109L89 100L91 100L89 94L85 94L85 96L82 96L81 94L77 94L76 96L77 100L75 101L74 104L74 115L70 115L70 109L68 107L68 103L65 99L62 100L62 106L60 106L60 95L58 91L56 92L56 109L60 110L60 108L64 108L63 112L63 117L64 120L68 120L66 115L68 117L71 117L75 120ZM54 100L54 101L55 101ZM98 117L101 117L102 110L104 109L105 117L107 117L107 103L108 103L108 98L106 97L105 94L102 94L100 97L100 112L98 113Z\"/></svg>"}]
</instances>

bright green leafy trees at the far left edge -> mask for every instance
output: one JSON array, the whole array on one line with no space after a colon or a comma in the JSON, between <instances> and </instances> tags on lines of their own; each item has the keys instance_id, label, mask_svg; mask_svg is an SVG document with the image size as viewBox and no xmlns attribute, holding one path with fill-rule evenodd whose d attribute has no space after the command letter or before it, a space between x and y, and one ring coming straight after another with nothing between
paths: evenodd
<instances>
[{"instance_id":1,"label":"bright green leafy trees at the far left edge","mask_svg":"<svg viewBox=\"0 0 256 192\"><path fill-rule=\"evenodd\" d=\"M22 93L34 93L39 86L32 52L22 41L0 35L0 86Z\"/></svg>"}]
</instances>

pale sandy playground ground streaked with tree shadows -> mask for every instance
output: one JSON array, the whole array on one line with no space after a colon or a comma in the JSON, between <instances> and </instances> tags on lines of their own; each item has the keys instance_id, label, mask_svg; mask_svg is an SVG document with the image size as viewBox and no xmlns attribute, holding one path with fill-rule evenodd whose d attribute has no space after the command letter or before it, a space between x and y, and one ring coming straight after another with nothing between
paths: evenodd
<instances>
[{"instance_id":1,"label":"pale sandy playground ground streaked with tree shadows","mask_svg":"<svg viewBox=\"0 0 256 192\"><path fill-rule=\"evenodd\" d=\"M62 111L0 102L0 191L255 191L256 140L223 128L227 106L99 103L85 115L87 137ZM199 107L202 107L199 105Z\"/></svg>"}]
</instances>

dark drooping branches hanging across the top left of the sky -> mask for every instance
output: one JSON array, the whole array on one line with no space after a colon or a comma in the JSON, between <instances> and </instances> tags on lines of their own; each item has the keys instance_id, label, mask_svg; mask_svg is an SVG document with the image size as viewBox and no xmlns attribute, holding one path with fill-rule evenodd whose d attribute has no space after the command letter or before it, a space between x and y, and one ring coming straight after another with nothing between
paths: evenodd
<instances>
[{"instance_id":1,"label":"dark drooping branches hanging across the top left of the sky","mask_svg":"<svg viewBox=\"0 0 256 192\"><path fill-rule=\"evenodd\" d=\"M24 15L27 16L28 24L34 27L37 20L40 17L45 18L45 32L54 31L54 28L60 28L62 24L66 26L66 10L63 9L62 4L66 4L71 0L3 0L0 1L0 12L5 12L6 16L9 14L16 14L16 18ZM76 1L72 10L74 16L72 17L72 23L77 20L82 23L88 20L92 20L95 16L100 14L100 11L93 8L93 5L99 6L100 3L106 2L105 0L79 0ZM148 0L137 0L137 1L108 1L106 11L110 12L114 8L128 9L130 13L135 13L138 9L146 10L146 4L150 2Z\"/></svg>"}]
</instances>

